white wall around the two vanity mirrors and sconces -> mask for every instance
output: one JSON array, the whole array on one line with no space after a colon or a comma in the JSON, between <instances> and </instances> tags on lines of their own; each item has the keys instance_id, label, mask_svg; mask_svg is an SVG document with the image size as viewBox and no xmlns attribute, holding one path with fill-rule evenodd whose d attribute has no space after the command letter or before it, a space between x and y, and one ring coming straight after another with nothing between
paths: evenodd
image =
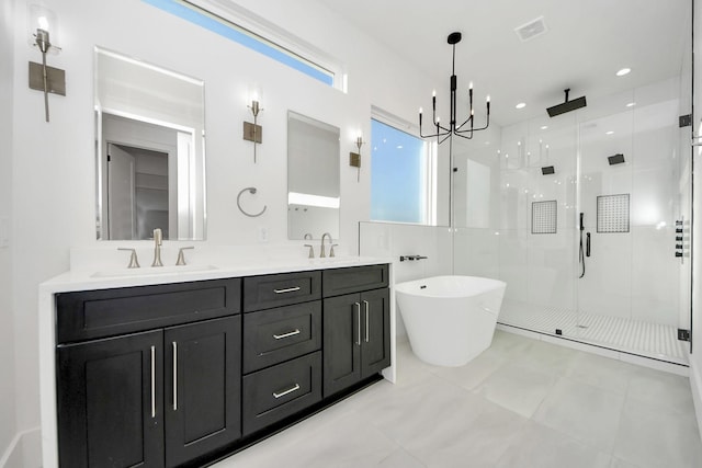
<instances>
[{"instance_id":1,"label":"white wall around the two vanity mirrors and sconces","mask_svg":"<svg viewBox=\"0 0 702 468\"><path fill-rule=\"evenodd\" d=\"M3 10L12 0L3 1ZM411 121L428 90L435 88L381 44L350 27L342 19L320 8L314 0L240 3L273 23L318 45L344 64L349 73L349 93L322 84L258 53L229 42L196 25L172 16L138 0L81 1L46 0L59 19L60 31L53 41L63 52L49 55L49 65L66 70L67 95L49 96L52 122L44 122L42 93L26 87L26 61L39 60L27 45L25 2L15 0L10 26L14 30L14 49L2 41L3 64L13 64L13 106L2 105L0 126L8 133L14 125L12 199L12 253L8 274L7 254L0 252L1 271L14 283L0 282L0 333L14 326L16 379L2 383L15 390L0 395L3 415L16 403L16 427L3 425L0 447L13 433L39 424L37 369L37 285L67 270L69 248L95 247L94 240L94 142L93 142L93 47L95 45L139 57L165 68L205 81L207 128L207 241L206 244L256 244L257 232L264 227L271 243L286 240L286 118L293 110L327 122L341 129L341 230L340 242L356 251L358 221L369 216L369 168L348 165L348 152L355 149L358 129L370 135L371 105ZM12 57L12 53L14 57ZM2 68L3 73L7 67ZM7 78L3 77L7 81ZM4 81L3 81L4 82ZM246 107L247 90L258 83L263 90L264 111L259 115L264 140L258 148L258 164L252 146L241 138L241 122L250 119ZM7 87L2 87L7 89ZM12 109L11 115L8 109ZM12 135L10 135L12 136ZM1 145L10 138L0 138ZM364 149L370 147L366 146ZM9 153L2 151L3 155ZM367 161L367 152L365 152ZM7 176L5 176L7 178ZM0 190L10 186L0 179ZM236 195L256 186L257 203L268 205L260 218L247 218L236 209ZM0 202L0 213L8 209ZM336 241L336 239L335 239ZM116 247L116 243L115 243ZM5 256L1 256L5 255ZM174 261L174 259L165 259ZM7 286L11 284L11 286ZM11 298L11 299L9 299ZM8 309L8 306L10 308ZM14 322L14 323L13 323ZM9 336L11 339L12 336ZM0 339L0 346L8 341ZM2 349L4 351L4 349ZM11 349L8 350L11 354ZM3 356L8 354L2 354ZM7 359L5 359L7 362ZM1 365L7 365L5 363ZM2 375L12 375L11 369ZM13 393L16 392L16 396ZM5 434L7 432L7 434Z\"/></svg>"}]
</instances>

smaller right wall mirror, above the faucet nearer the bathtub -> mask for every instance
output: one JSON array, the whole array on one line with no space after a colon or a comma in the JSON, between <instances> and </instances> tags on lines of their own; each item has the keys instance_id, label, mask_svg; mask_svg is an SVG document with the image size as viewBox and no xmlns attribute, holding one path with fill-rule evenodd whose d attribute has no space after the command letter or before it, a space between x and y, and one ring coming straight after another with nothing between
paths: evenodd
<instances>
[{"instance_id":1,"label":"smaller right wall mirror, above the faucet nearer the bathtub","mask_svg":"<svg viewBox=\"0 0 702 468\"><path fill-rule=\"evenodd\" d=\"M339 239L339 128L287 112L287 238Z\"/></svg>"}]
</instances>

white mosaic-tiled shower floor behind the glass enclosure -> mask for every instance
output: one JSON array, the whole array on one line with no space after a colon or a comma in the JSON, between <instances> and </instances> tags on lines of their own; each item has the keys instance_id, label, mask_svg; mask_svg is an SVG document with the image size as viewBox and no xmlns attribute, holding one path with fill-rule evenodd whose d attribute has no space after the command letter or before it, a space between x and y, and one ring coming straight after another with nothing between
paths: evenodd
<instances>
[{"instance_id":1,"label":"white mosaic-tiled shower floor behind the glass enclosure","mask_svg":"<svg viewBox=\"0 0 702 468\"><path fill-rule=\"evenodd\" d=\"M678 340L675 327L516 301L502 304L499 322L548 334L561 329L570 340L688 364L689 343Z\"/></svg>"}]
</instances>

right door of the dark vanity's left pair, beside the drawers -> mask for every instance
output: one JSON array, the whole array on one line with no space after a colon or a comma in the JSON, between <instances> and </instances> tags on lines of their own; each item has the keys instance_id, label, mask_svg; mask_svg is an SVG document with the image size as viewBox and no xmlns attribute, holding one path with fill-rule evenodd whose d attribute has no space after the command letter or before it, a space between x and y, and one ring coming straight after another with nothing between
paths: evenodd
<instances>
[{"instance_id":1,"label":"right door of the dark vanity's left pair, beside the drawers","mask_svg":"<svg viewBox=\"0 0 702 468\"><path fill-rule=\"evenodd\" d=\"M166 329L166 466L241 436L241 317Z\"/></svg>"}]
</instances>

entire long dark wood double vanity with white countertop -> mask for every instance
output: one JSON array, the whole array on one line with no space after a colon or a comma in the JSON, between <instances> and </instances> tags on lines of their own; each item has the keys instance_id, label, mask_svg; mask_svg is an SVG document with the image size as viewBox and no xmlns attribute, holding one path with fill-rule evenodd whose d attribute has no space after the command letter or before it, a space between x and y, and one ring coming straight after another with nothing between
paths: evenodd
<instances>
[{"instance_id":1,"label":"entire long dark wood double vanity with white countertop","mask_svg":"<svg viewBox=\"0 0 702 468\"><path fill-rule=\"evenodd\" d=\"M269 270L43 284L44 467L202 466L394 379L387 263Z\"/></svg>"}]
</instances>

